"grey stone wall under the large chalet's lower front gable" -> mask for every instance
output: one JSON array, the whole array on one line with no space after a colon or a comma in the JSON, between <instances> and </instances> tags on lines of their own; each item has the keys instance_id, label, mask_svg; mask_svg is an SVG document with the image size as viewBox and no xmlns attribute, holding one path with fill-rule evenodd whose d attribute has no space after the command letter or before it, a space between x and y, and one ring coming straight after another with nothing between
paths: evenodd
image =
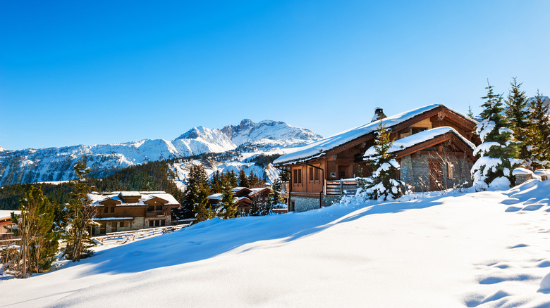
<instances>
[{"instance_id":1,"label":"grey stone wall under the large chalet's lower front gable","mask_svg":"<svg viewBox=\"0 0 550 308\"><path fill-rule=\"evenodd\" d=\"M453 188L460 185L471 186L472 178L470 169L473 162L465 157L456 155L430 155L417 154L401 158L400 179L412 186L412 191L429 191L429 161L439 160L441 163L443 189ZM450 163L450 166L448 165ZM451 168L451 177L448 169Z\"/></svg>"}]
</instances>

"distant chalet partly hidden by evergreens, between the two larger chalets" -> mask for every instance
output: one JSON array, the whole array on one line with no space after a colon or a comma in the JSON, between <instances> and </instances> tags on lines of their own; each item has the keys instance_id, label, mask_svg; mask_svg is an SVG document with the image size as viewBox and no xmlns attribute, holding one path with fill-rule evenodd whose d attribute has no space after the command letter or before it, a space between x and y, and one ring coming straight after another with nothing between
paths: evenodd
<instances>
[{"instance_id":1,"label":"distant chalet partly hidden by evergreens, between the two larger chalets","mask_svg":"<svg viewBox=\"0 0 550 308\"><path fill-rule=\"evenodd\" d=\"M267 196L271 193L271 188L247 188L236 187L231 191L235 194L235 205L237 206L238 216L246 216L250 212L253 202L264 203ZM207 197L210 208L216 210L221 200L221 193L214 193Z\"/></svg>"}]
</instances>

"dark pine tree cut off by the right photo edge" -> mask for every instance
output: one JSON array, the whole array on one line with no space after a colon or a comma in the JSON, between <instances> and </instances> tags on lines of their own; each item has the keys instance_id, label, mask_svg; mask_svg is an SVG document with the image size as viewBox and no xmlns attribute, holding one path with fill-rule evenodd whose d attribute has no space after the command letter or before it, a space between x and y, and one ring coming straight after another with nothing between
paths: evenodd
<instances>
[{"instance_id":1,"label":"dark pine tree cut off by the right photo edge","mask_svg":"<svg viewBox=\"0 0 550 308\"><path fill-rule=\"evenodd\" d=\"M530 149L532 169L550 165L550 120L549 106L544 104L544 96L537 90L537 95L530 102L530 123L527 132L527 146Z\"/></svg>"}]
</instances>

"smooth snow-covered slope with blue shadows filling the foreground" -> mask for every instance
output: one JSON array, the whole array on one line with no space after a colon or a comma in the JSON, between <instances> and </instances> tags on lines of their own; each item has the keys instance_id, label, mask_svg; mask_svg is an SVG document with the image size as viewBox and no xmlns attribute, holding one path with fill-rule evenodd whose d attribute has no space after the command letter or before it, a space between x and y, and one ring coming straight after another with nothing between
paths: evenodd
<instances>
[{"instance_id":1,"label":"smooth snow-covered slope with blue shadows filling the foreground","mask_svg":"<svg viewBox=\"0 0 550 308\"><path fill-rule=\"evenodd\" d=\"M550 307L549 190L550 181L532 180L510 191L212 219L0 281L1 304Z\"/></svg>"}]
</instances>

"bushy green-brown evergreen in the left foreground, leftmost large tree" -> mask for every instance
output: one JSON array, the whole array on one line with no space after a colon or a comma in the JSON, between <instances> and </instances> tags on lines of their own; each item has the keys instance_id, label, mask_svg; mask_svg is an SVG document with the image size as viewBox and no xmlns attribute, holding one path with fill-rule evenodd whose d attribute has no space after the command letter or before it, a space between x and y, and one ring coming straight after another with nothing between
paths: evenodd
<instances>
[{"instance_id":1,"label":"bushy green-brown evergreen in the left foreground, leftmost large tree","mask_svg":"<svg viewBox=\"0 0 550 308\"><path fill-rule=\"evenodd\" d=\"M30 273L47 271L54 262L61 238L56 206L51 205L42 191L30 186L20 200L21 214L12 213L17 225L16 234L21 238L20 250L6 254L11 260L8 268L16 276L26 278ZM6 262L8 263L8 262Z\"/></svg>"}]
</instances>

